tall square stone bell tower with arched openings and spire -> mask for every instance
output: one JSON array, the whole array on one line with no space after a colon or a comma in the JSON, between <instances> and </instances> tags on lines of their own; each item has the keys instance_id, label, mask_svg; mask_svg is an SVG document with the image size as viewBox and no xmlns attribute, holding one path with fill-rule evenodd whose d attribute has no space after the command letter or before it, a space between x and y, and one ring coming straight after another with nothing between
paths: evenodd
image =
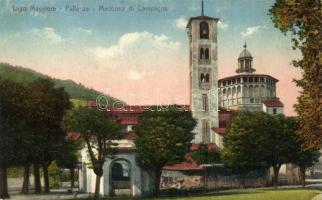
<instances>
[{"instance_id":1,"label":"tall square stone bell tower with arched openings and spire","mask_svg":"<svg viewBox=\"0 0 322 200\"><path fill-rule=\"evenodd\" d=\"M190 65L190 109L197 119L194 143L214 143L218 127L217 18L192 17L187 24Z\"/></svg>"}]
</instances>

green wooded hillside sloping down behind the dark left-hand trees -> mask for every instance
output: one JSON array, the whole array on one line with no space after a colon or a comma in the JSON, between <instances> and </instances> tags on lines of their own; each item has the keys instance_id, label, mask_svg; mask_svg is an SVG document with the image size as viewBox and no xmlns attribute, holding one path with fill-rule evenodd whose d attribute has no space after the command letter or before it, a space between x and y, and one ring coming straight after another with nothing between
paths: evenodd
<instances>
[{"instance_id":1,"label":"green wooded hillside sloping down behind the dark left-hand trees","mask_svg":"<svg viewBox=\"0 0 322 200\"><path fill-rule=\"evenodd\" d=\"M70 95L71 99L78 99L83 101L95 101L96 97L102 94L99 91L87 88L84 85L75 83L72 80L55 79L34 70L19 66L12 66L7 63L0 63L0 78L25 85L38 78L46 78L53 81L57 87L63 87L65 91ZM114 102L117 99L108 97L108 100L109 102Z\"/></svg>"}]
</instances>

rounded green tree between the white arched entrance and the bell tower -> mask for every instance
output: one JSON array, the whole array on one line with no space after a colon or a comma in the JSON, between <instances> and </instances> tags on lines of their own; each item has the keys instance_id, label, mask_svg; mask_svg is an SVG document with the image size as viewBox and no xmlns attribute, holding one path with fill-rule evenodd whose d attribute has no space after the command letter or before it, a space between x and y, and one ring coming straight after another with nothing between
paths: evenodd
<instances>
[{"instance_id":1,"label":"rounded green tree between the white arched entrance and the bell tower","mask_svg":"<svg viewBox=\"0 0 322 200\"><path fill-rule=\"evenodd\" d=\"M196 125L191 112L174 107L161 111L145 111L134 127L137 135L136 162L155 176L154 195L160 194L162 167L180 162L189 151Z\"/></svg>"}]
</instances>

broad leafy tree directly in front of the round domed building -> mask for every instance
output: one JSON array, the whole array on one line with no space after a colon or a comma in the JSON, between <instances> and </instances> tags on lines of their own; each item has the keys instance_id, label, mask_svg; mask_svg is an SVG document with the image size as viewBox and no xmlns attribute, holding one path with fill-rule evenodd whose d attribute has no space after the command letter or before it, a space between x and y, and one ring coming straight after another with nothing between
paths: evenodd
<instances>
[{"instance_id":1,"label":"broad leafy tree directly in front of the round domed building","mask_svg":"<svg viewBox=\"0 0 322 200\"><path fill-rule=\"evenodd\" d=\"M281 165L291 161L294 132L283 115L236 112L224 136L223 161L239 171L272 167L276 186Z\"/></svg>"}]
</instances>

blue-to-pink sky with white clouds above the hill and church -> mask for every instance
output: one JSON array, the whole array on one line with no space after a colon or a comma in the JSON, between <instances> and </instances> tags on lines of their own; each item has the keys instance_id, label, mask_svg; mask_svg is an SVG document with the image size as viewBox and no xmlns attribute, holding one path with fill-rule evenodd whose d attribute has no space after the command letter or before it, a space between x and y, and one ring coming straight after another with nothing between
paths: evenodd
<instances>
[{"instance_id":1,"label":"blue-to-pink sky with white clouds above the hill and church","mask_svg":"<svg viewBox=\"0 0 322 200\"><path fill-rule=\"evenodd\" d=\"M273 0L204 0L219 18L219 78L235 75L244 42L256 73L277 79L295 115L300 58L267 14ZM186 24L201 0L0 0L0 62L71 79L131 105L189 104Z\"/></svg>"}]
</instances>

